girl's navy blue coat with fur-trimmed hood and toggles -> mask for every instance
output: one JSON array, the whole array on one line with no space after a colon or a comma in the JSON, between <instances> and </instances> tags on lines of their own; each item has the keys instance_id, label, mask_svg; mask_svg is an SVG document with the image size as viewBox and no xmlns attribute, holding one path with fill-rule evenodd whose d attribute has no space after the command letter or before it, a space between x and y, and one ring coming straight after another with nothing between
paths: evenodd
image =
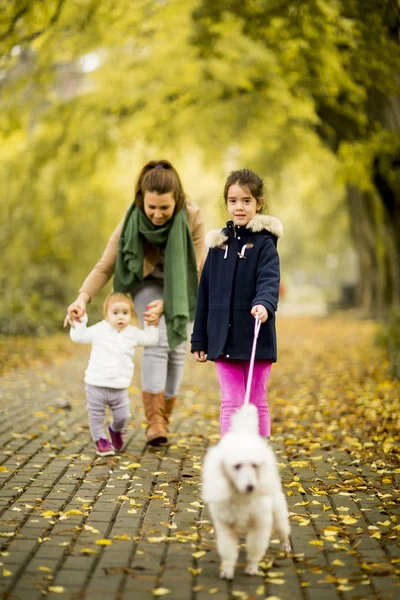
<instances>
[{"instance_id":1,"label":"girl's navy blue coat with fur-trimmed hood and toggles","mask_svg":"<svg viewBox=\"0 0 400 600\"><path fill-rule=\"evenodd\" d=\"M268 320L261 325L256 360L276 361L275 311L279 298L277 238L279 219L256 215L246 227L210 231L209 246L200 278L191 351L203 350L208 360L220 356L250 360L254 317L250 311L262 304Z\"/></svg>"}]
</instances>

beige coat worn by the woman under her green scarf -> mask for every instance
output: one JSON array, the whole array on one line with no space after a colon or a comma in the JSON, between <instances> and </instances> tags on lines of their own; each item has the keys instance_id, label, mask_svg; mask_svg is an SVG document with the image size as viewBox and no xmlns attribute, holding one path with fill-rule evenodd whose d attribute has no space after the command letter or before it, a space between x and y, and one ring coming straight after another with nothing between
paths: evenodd
<instances>
[{"instance_id":1,"label":"beige coat worn by the woman under her green scarf","mask_svg":"<svg viewBox=\"0 0 400 600\"><path fill-rule=\"evenodd\" d=\"M201 212L196 204L189 200L186 201L188 213L189 228L192 233L194 249L196 252L197 274L200 277L201 269L203 268L206 249L204 246L204 223ZM124 219L114 230L110 237L103 256L94 266L92 271L86 277L79 292L86 292L89 295L89 302L98 292L103 289L107 281L114 275L115 263L117 260L118 241L121 235ZM160 250L157 246L153 246L149 242L144 243L144 261L143 261L143 277L147 277L152 273L157 265L160 256Z\"/></svg>"}]
</instances>

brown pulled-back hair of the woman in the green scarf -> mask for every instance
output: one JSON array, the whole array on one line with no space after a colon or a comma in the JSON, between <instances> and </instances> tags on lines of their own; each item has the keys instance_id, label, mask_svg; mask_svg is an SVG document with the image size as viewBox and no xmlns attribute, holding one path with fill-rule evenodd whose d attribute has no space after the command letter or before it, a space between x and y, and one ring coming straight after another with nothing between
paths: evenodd
<instances>
[{"instance_id":1,"label":"brown pulled-back hair of the woman in the green scarf","mask_svg":"<svg viewBox=\"0 0 400 600\"><path fill-rule=\"evenodd\" d=\"M143 200L146 192L168 194L172 192L175 213L185 204L185 193L178 173L168 160L150 160L140 171L135 187L135 205L144 210Z\"/></svg>"}]
</instances>

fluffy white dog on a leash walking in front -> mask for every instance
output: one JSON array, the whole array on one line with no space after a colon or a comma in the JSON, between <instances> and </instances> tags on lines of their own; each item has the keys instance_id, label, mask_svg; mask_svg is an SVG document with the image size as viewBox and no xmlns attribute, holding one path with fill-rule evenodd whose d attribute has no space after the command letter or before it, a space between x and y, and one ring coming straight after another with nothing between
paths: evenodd
<instances>
[{"instance_id":1,"label":"fluffy white dog on a leash walking in front","mask_svg":"<svg viewBox=\"0 0 400 600\"><path fill-rule=\"evenodd\" d=\"M258 434L254 405L243 406L203 466L203 500L208 504L221 557L221 577L232 579L239 532L246 532L247 566L255 575L268 549L272 527L289 552L289 516L275 455Z\"/></svg>"}]
</instances>

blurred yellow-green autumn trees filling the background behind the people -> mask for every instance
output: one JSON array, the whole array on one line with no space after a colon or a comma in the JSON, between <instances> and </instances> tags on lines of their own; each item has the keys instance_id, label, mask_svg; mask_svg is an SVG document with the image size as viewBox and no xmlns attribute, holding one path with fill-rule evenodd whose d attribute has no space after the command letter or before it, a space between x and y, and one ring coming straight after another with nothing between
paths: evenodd
<instances>
[{"instance_id":1,"label":"blurred yellow-green autumn trees filling the background behind the people","mask_svg":"<svg viewBox=\"0 0 400 600\"><path fill-rule=\"evenodd\" d=\"M400 303L396 0L13 0L0 54L2 332L60 326L155 157L207 227L264 177L286 301Z\"/></svg>"}]
</instances>

